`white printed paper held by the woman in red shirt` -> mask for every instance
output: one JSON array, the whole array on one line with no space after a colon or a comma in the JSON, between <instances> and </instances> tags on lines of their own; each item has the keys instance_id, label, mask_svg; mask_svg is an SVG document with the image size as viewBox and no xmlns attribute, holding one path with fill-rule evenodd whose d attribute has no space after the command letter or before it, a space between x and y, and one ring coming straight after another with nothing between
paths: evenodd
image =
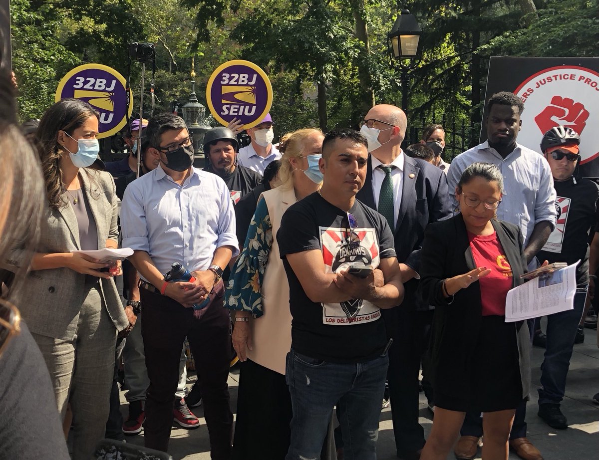
<instances>
[{"instance_id":1,"label":"white printed paper held by the woman in red shirt","mask_svg":"<svg viewBox=\"0 0 599 460\"><path fill-rule=\"evenodd\" d=\"M579 262L510 289L506 299L506 323L572 310Z\"/></svg>"}]
</instances>

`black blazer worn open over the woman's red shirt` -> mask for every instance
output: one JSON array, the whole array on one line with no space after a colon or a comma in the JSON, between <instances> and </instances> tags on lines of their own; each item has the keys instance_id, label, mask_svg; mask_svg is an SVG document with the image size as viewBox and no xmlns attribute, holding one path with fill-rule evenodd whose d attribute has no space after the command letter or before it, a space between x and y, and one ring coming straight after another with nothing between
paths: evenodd
<instances>
[{"instance_id":1,"label":"black blazer worn open over the woman's red shirt","mask_svg":"<svg viewBox=\"0 0 599 460\"><path fill-rule=\"evenodd\" d=\"M522 252L522 232L508 222L491 222L512 267L513 286L521 285L524 280L520 276L527 272L527 261ZM444 298L441 293L444 279L476 268L462 214L433 223L426 229L421 256L418 291L423 299L435 307L428 352L431 358L430 377L434 384L436 382L443 385L446 394L467 399L470 394L470 376L477 368L471 357L482 319L480 284L473 283L466 289L459 290L453 296L453 301L451 298ZM530 332L525 321L513 324L518 341L524 399L528 398L530 392Z\"/></svg>"}]
</instances>

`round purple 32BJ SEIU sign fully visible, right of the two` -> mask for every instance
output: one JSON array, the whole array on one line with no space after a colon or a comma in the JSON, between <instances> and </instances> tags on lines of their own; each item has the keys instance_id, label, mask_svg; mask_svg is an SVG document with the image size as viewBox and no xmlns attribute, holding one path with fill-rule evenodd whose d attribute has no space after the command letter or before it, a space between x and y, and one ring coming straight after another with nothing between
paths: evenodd
<instances>
[{"instance_id":1,"label":"round purple 32BJ SEIU sign fully visible, right of the two","mask_svg":"<svg viewBox=\"0 0 599 460\"><path fill-rule=\"evenodd\" d=\"M230 60L210 75L206 102L222 125L238 119L244 128L253 128L267 116L273 104L273 87L255 63Z\"/></svg>"}]
</instances>

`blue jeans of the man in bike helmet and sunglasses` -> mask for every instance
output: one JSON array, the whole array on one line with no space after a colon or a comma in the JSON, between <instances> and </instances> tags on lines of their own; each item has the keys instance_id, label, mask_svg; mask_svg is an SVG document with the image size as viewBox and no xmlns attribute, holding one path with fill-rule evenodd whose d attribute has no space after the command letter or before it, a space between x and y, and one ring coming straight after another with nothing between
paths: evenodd
<instances>
[{"instance_id":1,"label":"blue jeans of the man in bike helmet and sunglasses","mask_svg":"<svg viewBox=\"0 0 599 460\"><path fill-rule=\"evenodd\" d=\"M547 316L547 347L541 364L539 405L559 404L564 398L576 328L585 309L586 286L576 289L574 309Z\"/></svg>"}]
</instances>

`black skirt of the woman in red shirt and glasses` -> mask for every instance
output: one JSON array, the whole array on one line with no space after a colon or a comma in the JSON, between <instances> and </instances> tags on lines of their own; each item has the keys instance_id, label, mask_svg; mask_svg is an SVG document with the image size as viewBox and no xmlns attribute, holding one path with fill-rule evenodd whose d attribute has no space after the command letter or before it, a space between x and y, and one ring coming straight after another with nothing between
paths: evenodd
<instances>
[{"instance_id":1,"label":"black skirt of the woman in red shirt and glasses","mask_svg":"<svg viewBox=\"0 0 599 460\"><path fill-rule=\"evenodd\" d=\"M514 323L504 316L483 316L479 337L470 357L469 398L443 391L435 382L435 406L459 412L515 409L522 401L522 381Z\"/></svg>"}]
</instances>

